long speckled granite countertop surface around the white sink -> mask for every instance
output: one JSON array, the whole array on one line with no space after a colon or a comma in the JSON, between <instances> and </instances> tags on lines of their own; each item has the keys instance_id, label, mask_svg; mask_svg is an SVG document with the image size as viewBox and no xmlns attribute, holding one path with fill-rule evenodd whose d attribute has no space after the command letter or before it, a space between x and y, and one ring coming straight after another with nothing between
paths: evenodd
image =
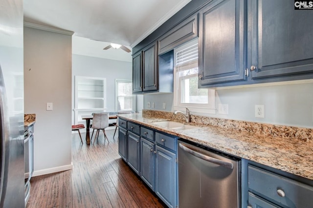
<instances>
[{"instance_id":1,"label":"long speckled granite countertop surface around the white sink","mask_svg":"<svg viewBox=\"0 0 313 208\"><path fill-rule=\"evenodd\" d=\"M118 117L240 158L313 179L313 143L311 141L270 137L195 123L188 124L198 125L200 128L173 130L154 124L154 122L169 120L165 118L143 117L142 114L125 114L118 115Z\"/></svg>"}]
</instances>

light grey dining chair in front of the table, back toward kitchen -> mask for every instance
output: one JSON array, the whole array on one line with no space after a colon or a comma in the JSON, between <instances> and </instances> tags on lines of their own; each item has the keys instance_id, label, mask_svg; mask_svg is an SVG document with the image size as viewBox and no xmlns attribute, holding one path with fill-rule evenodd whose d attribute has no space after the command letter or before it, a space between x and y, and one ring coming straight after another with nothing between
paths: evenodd
<instances>
[{"instance_id":1,"label":"light grey dining chair in front of the table, back toward kitchen","mask_svg":"<svg viewBox=\"0 0 313 208\"><path fill-rule=\"evenodd\" d=\"M109 113L94 113L93 114L93 117L92 117L92 128L93 128L93 130L92 130L92 134L91 134L91 139L93 136L94 129L97 130L96 135L94 136L93 144L96 141L96 139L98 139L100 130L102 130L104 133L104 142L106 142L106 139L107 139L108 143L110 143L109 139L107 137L106 131L105 131L105 128L108 126L109 126Z\"/></svg>"}]
</instances>

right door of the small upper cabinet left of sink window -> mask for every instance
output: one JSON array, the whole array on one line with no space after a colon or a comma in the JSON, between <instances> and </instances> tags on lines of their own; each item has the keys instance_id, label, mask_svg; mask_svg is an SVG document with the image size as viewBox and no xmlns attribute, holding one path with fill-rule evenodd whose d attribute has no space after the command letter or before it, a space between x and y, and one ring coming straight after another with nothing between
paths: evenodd
<instances>
[{"instance_id":1,"label":"right door of the small upper cabinet left of sink window","mask_svg":"<svg viewBox=\"0 0 313 208\"><path fill-rule=\"evenodd\" d=\"M157 44L153 43L143 49L143 91L158 89Z\"/></svg>"}]
</instances>

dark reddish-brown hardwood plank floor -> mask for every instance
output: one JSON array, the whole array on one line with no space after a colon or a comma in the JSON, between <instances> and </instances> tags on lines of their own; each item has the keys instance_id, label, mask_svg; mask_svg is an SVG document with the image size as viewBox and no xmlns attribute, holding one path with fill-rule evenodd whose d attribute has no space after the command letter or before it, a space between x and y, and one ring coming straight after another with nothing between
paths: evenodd
<instances>
[{"instance_id":1,"label":"dark reddish-brown hardwood plank floor","mask_svg":"<svg viewBox=\"0 0 313 208\"><path fill-rule=\"evenodd\" d=\"M118 155L114 130L106 133L109 144L102 133L90 146L72 134L73 169L33 177L27 208L165 207Z\"/></svg>"}]
</instances>

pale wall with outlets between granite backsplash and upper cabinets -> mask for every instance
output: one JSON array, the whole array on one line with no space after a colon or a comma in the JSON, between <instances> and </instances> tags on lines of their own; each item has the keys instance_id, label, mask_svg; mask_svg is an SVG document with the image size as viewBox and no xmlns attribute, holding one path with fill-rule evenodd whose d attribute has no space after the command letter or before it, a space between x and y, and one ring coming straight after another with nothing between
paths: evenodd
<instances>
[{"instance_id":1,"label":"pale wall with outlets between granite backsplash and upper cabinets","mask_svg":"<svg viewBox=\"0 0 313 208\"><path fill-rule=\"evenodd\" d=\"M216 113L205 116L313 128L312 89L313 83L217 89L216 107L218 104L228 104L228 115ZM172 111L173 93L144 95L144 109L153 109L148 108L147 102L155 102L156 110L163 110L162 103L165 102L165 110ZM265 118L255 118L255 104L265 106Z\"/></svg>"}]
</instances>

